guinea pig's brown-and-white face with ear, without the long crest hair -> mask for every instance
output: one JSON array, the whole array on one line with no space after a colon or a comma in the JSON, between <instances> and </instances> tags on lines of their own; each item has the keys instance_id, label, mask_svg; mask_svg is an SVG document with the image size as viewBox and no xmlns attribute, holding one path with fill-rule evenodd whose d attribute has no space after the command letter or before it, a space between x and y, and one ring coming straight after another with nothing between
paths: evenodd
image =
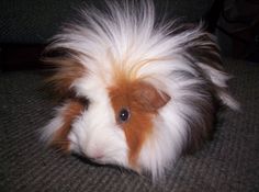
<instances>
[{"instance_id":1,"label":"guinea pig's brown-and-white face with ear, without the long crest hair","mask_svg":"<svg viewBox=\"0 0 259 192\"><path fill-rule=\"evenodd\" d=\"M75 98L45 128L50 144L98 163L148 170L142 149L153 138L154 120L170 97L145 80L120 78L106 84L85 75L69 86Z\"/></svg>"}]
</instances>

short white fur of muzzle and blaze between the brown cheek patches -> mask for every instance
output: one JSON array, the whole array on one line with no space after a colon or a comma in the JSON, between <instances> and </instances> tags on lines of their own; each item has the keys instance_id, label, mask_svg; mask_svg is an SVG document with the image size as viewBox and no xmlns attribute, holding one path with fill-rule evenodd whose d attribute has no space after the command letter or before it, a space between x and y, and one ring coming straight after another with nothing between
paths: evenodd
<instances>
[{"instance_id":1,"label":"short white fur of muzzle and blaze between the brown cheek patches","mask_svg":"<svg viewBox=\"0 0 259 192\"><path fill-rule=\"evenodd\" d=\"M87 97L89 108L72 124L68 135L72 151L87 155L101 163L127 166L124 132L116 125L106 89L100 79L83 77L75 82L77 93ZM100 157L102 156L102 157Z\"/></svg>"}]
</instances>

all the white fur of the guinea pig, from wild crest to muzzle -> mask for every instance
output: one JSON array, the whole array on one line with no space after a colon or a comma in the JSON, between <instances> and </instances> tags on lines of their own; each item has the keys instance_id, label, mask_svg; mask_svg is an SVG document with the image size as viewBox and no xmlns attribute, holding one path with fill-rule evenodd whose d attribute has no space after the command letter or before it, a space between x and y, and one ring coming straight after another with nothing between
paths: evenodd
<instances>
[{"instance_id":1,"label":"all the white fur of the guinea pig, from wild crest to muzzle","mask_svg":"<svg viewBox=\"0 0 259 192\"><path fill-rule=\"evenodd\" d=\"M127 1L126 1L127 2ZM200 111L184 103L188 98L209 102L207 94L190 88L203 88L209 79L201 77L200 70L210 77L211 83L225 89L228 76L219 70L185 59L187 42L200 37L201 26L177 35L169 35L169 24L155 27L155 11L151 1L140 1L138 5L124 3L109 4L109 13L98 10L82 11L80 23L65 27L55 37L50 48L69 48L81 53L76 57L88 69L86 77L75 80L72 88L80 97L89 99L89 109L72 124L69 134L71 150L82 153L101 163L130 167L128 148L124 132L115 122L106 88L113 86L113 70L122 69L126 76L136 72L137 78L155 86L171 97L154 120L154 132L145 142L139 154L140 170L148 170L156 178L161 176L169 163L174 162L187 143L190 127L187 118L192 116L202 122ZM173 25L174 26L174 25ZM204 43L205 44L205 43ZM189 46L194 46L190 43ZM150 60L139 66L139 61ZM198 70L199 69L199 70ZM184 71L190 77L177 75ZM216 92L223 103L236 108L234 100L223 92ZM60 110L61 111L61 110ZM47 125L44 137L50 137L60 127L57 115Z\"/></svg>"}]
</instances>

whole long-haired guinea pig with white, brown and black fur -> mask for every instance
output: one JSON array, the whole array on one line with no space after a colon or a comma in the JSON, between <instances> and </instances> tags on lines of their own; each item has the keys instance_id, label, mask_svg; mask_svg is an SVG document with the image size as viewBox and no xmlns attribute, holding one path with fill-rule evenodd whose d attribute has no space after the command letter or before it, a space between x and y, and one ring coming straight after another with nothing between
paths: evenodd
<instances>
[{"instance_id":1,"label":"whole long-haired guinea pig with white, brown and black fur","mask_svg":"<svg viewBox=\"0 0 259 192\"><path fill-rule=\"evenodd\" d=\"M64 100L44 127L48 145L157 178L209 137L218 103L238 108L201 25L156 20L150 0L80 13L46 48Z\"/></svg>"}]
</instances>

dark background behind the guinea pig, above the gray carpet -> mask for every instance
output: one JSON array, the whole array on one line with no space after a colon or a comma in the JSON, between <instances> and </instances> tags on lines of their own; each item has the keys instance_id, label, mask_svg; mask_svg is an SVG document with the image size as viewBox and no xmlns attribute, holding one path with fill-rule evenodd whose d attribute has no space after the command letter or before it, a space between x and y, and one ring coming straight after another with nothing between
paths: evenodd
<instances>
[{"instance_id":1,"label":"dark background behind the guinea pig, above the gray carpet","mask_svg":"<svg viewBox=\"0 0 259 192\"><path fill-rule=\"evenodd\" d=\"M109 2L112 3L112 0ZM0 68L34 69L48 39L63 23L75 19L76 9L95 0L1 0ZM225 56L258 61L259 2L256 0L155 0L158 14L185 22L204 21L218 37Z\"/></svg>"}]
</instances>

